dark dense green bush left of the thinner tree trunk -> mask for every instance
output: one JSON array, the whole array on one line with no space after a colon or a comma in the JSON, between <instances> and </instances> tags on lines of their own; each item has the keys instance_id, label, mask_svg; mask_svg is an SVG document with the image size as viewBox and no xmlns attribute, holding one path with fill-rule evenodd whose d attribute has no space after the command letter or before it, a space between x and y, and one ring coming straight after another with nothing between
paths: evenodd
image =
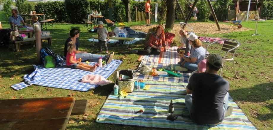
<instances>
[{"instance_id":1,"label":"dark dense green bush left of the thinner tree trunk","mask_svg":"<svg viewBox=\"0 0 273 130\"><path fill-rule=\"evenodd\" d=\"M90 13L90 3L87 0L65 0L64 4L71 23L81 23Z\"/></svg>"}]
</instances>

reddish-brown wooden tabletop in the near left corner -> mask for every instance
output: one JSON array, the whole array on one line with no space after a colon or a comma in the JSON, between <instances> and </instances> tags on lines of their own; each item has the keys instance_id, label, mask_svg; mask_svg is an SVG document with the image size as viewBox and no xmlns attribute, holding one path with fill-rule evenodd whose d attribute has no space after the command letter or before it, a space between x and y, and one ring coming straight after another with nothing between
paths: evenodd
<instances>
[{"instance_id":1,"label":"reddish-brown wooden tabletop in the near left corner","mask_svg":"<svg viewBox=\"0 0 273 130\"><path fill-rule=\"evenodd\" d=\"M74 103L74 97L0 100L0 128L64 130Z\"/></svg>"}]
</instances>

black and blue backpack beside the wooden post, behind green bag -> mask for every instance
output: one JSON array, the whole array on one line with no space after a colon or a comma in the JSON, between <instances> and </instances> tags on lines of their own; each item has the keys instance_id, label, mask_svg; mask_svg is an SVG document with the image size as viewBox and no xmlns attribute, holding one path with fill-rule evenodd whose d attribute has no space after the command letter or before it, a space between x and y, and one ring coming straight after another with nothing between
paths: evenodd
<instances>
[{"instance_id":1,"label":"black and blue backpack beside the wooden post, behind green bag","mask_svg":"<svg viewBox=\"0 0 273 130\"><path fill-rule=\"evenodd\" d=\"M59 66L66 65L66 62L64 61L64 59L59 54L54 54L53 50L51 50L49 47L43 47L40 53L42 54L44 52L55 59L56 65L59 65ZM41 56L45 56L45 55L41 55Z\"/></svg>"}]
</instances>

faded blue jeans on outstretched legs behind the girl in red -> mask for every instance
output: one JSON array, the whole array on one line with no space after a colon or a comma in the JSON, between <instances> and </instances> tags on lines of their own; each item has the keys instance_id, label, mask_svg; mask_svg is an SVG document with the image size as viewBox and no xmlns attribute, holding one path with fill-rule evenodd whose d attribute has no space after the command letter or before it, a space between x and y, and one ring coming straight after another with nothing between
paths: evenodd
<instances>
[{"instance_id":1,"label":"faded blue jeans on outstretched legs behind the girl in red","mask_svg":"<svg viewBox=\"0 0 273 130\"><path fill-rule=\"evenodd\" d=\"M82 61L91 61L91 62L99 62L99 57L102 58L103 61L106 61L107 55L97 55L91 53L77 53L75 54L76 58L82 58Z\"/></svg>"}]
</instances>

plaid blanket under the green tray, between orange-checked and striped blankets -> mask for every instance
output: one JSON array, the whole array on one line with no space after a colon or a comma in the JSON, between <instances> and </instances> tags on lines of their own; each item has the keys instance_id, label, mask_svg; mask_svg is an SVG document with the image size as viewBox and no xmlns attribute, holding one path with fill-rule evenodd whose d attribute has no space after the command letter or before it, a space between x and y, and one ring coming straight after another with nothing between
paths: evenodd
<instances>
[{"instance_id":1,"label":"plaid blanket under the green tray, between orange-checked and striped blankets","mask_svg":"<svg viewBox=\"0 0 273 130\"><path fill-rule=\"evenodd\" d=\"M151 68L161 69L163 68L163 66L167 66L169 64L160 64L160 63L155 63L155 62L151 62L151 61L147 61L146 59L143 59L141 63L139 64L138 68L136 69L136 71L134 71L135 79L146 80L146 81L172 82L172 83L180 83L180 82L188 83L188 78L191 74L191 71L188 71L188 72L181 73L182 76L180 77L174 77L174 76L160 77L160 76L143 75L140 73L140 70L139 70L142 65L147 65L147 66L150 66ZM175 66L179 66L179 64L173 64L173 67Z\"/></svg>"}]
</instances>

